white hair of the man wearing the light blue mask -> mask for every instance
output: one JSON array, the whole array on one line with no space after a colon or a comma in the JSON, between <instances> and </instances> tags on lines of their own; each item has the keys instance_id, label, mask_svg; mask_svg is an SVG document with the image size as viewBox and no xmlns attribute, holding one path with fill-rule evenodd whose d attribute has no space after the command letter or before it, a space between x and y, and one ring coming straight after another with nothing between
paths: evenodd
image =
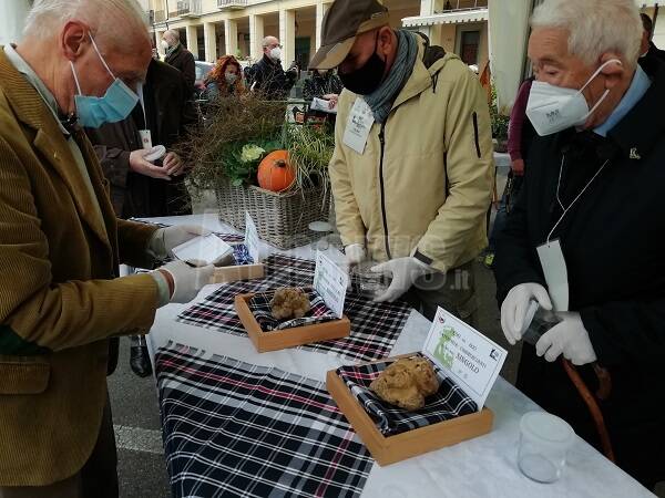
<instances>
[{"instance_id":1,"label":"white hair of the man wearing the light blue mask","mask_svg":"<svg viewBox=\"0 0 665 498\"><path fill-rule=\"evenodd\" d=\"M136 0L34 0L23 35L43 39L55 34L71 20L90 25L98 43L100 39L115 44L131 43L133 39L126 37L127 32L149 35L146 14Z\"/></svg>"}]
</instances>

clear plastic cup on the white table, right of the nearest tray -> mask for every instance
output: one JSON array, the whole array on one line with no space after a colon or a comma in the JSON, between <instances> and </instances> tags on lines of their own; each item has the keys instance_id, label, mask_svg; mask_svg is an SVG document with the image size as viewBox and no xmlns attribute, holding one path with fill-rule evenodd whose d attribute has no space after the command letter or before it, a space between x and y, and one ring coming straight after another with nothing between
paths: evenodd
<instances>
[{"instance_id":1,"label":"clear plastic cup on the white table, right of the nearest tray","mask_svg":"<svg viewBox=\"0 0 665 498\"><path fill-rule=\"evenodd\" d=\"M520 421L518 466L536 483L555 483L574 442L575 432L562 418L545 412L526 413Z\"/></svg>"}]
</instances>

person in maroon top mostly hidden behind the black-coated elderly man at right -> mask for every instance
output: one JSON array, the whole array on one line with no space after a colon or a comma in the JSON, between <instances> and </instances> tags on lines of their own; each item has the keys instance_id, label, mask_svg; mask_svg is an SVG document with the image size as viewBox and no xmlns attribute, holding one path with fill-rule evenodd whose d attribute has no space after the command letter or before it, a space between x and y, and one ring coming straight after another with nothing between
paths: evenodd
<instances>
[{"instance_id":1,"label":"person in maroon top mostly hidden behind the black-coated elderly man at right","mask_svg":"<svg viewBox=\"0 0 665 498\"><path fill-rule=\"evenodd\" d=\"M534 77L529 77L521 85L515 97L515 103L510 113L510 124L508 126L508 154L510 155L510 172L508 173L508 183L501 196L501 203L494 218L494 226L490 236L490 246L484 257L484 264L492 268L494 262L494 249L497 237L505 226L505 219L520 195L522 181L524 179L524 165L529 155L529 147L535 136L535 129L526 118L526 103L531 93L531 84Z\"/></svg>"}]
</instances>

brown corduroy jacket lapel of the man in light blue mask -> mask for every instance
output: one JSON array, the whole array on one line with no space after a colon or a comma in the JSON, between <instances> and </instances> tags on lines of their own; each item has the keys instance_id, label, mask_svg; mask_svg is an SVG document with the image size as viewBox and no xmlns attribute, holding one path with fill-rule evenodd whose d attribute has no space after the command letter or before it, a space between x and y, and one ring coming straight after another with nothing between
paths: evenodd
<instances>
[{"instance_id":1,"label":"brown corduroy jacket lapel of the man in light blue mask","mask_svg":"<svg viewBox=\"0 0 665 498\"><path fill-rule=\"evenodd\" d=\"M74 165L75 159L66 143L66 137L62 134L53 113L47 107L37 90L7 59L2 46L0 46L0 89L7 96L17 118L35 131L32 144L41 153L45 163L60 175L68 186L81 218L98 238L110 247L106 236L109 230L104 229L104 224L109 228L109 220L100 219L93 204L99 200L104 218L110 216L110 205L106 206L109 203L99 176L98 159L94 154L91 155L92 147L81 147L81 154L85 160L90 180L98 197L96 200L90 196L90 190ZM83 139L85 141L85 138Z\"/></svg>"}]
</instances>

